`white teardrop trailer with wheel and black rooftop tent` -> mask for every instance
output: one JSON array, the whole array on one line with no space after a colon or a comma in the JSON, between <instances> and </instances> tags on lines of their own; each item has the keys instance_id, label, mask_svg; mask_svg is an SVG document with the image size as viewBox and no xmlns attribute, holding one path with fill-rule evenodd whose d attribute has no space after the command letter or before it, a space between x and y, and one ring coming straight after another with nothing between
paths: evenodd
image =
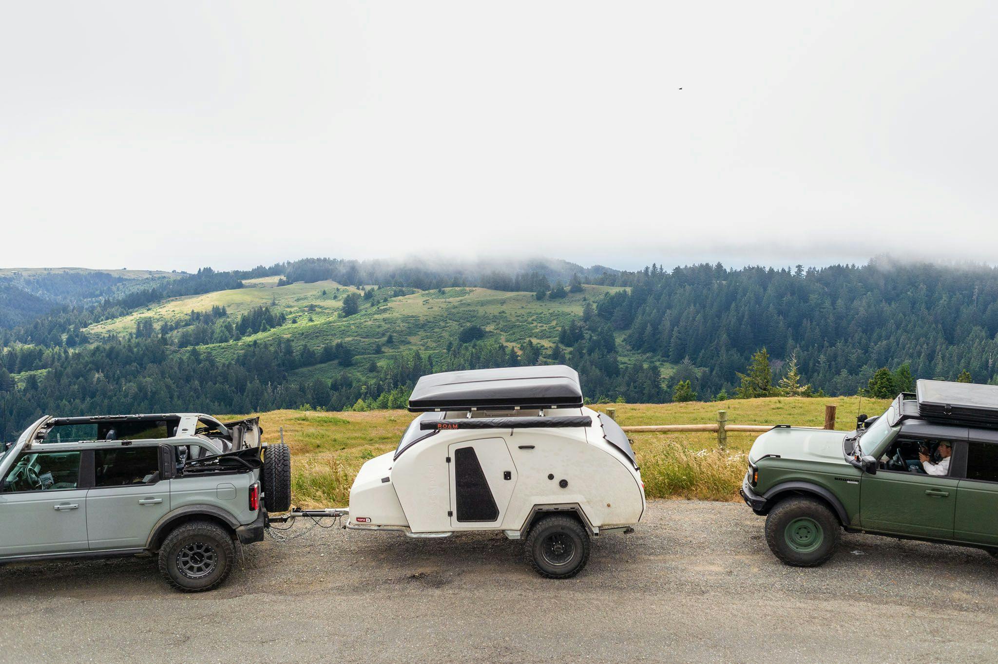
<instances>
[{"instance_id":1,"label":"white teardrop trailer with wheel and black rooftop tent","mask_svg":"<svg viewBox=\"0 0 998 664\"><path fill-rule=\"evenodd\" d=\"M645 491L630 441L566 366L423 376L394 452L364 464L346 527L410 537L501 530L534 569L577 574L591 536L631 532ZM340 511L343 515L346 515Z\"/></svg>"}]
</instances>

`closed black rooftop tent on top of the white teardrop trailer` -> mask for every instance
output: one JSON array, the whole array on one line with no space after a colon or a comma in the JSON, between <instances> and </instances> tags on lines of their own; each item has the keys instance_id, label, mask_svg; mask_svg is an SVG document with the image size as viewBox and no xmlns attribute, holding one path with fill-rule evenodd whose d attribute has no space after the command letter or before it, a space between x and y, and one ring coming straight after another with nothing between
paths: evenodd
<instances>
[{"instance_id":1,"label":"closed black rooftop tent on top of the white teardrop trailer","mask_svg":"<svg viewBox=\"0 0 998 664\"><path fill-rule=\"evenodd\" d=\"M579 374L561 364L449 371L423 376L409 397L414 413L514 407L581 408Z\"/></svg>"}]
</instances>

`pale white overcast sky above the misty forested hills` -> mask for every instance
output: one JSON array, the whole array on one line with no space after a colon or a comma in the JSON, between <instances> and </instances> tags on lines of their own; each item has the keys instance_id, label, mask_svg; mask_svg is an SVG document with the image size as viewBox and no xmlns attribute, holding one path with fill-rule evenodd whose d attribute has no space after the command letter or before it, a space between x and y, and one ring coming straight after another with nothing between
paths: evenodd
<instances>
[{"instance_id":1,"label":"pale white overcast sky above the misty forested hills","mask_svg":"<svg viewBox=\"0 0 998 664\"><path fill-rule=\"evenodd\" d=\"M998 262L996 33L987 2L2 0L0 265Z\"/></svg>"}]
</instances>

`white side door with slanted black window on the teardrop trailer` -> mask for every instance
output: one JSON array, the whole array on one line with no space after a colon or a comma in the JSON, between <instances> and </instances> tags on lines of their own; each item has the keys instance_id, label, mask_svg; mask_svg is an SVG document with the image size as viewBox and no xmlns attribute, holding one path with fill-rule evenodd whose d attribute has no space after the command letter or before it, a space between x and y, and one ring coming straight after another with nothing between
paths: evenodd
<instances>
[{"instance_id":1,"label":"white side door with slanted black window on the teardrop trailer","mask_svg":"<svg viewBox=\"0 0 998 664\"><path fill-rule=\"evenodd\" d=\"M455 443L450 459L450 524L498 528L516 486L516 467L501 438Z\"/></svg>"}]
</instances>

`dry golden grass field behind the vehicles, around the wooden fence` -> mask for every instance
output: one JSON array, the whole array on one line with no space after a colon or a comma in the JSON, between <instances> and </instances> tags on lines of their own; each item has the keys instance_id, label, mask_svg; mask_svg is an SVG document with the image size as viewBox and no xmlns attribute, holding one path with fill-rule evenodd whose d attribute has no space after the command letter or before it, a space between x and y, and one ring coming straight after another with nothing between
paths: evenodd
<instances>
[{"instance_id":1,"label":"dry golden grass field behind the vehicles, around the wooden fence","mask_svg":"<svg viewBox=\"0 0 998 664\"><path fill-rule=\"evenodd\" d=\"M728 411L730 424L790 424L820 427L826 404L838 406L836 429L854 428L857 397L747 399L683 404L610 404L623 426L711 424ZM888 402L864 399L862 411L878 414ZM350 485L368 459L394 450L414 417L405 411L324 413L272 411L259 414L264 440L276 442L283 429L291 449L294 503L345 506ZM745 455L757 434L730 433L719 450L709 432L631 434L649 498L737 499L746 472Z\"/></svg>"}]
</instances>

